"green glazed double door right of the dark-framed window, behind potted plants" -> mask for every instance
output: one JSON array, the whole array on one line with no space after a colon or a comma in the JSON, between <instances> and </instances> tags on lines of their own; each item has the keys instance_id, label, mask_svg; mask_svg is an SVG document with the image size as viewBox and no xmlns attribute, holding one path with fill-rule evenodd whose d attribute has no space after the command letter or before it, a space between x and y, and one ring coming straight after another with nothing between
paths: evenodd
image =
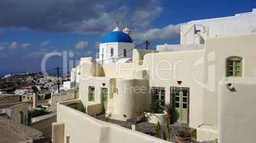
<instances>
[{"instance_id":1,"label":"green glazed double door right of the dark-framed window, behind potted plants","mask_svg":"<svg viewBox=\"0 0 256 143\"><path fill-rule=\"evenodd\" d=\"M173 105L177 112L176 118L178 122L187 123L188 113L188 90L174 89L173 90Z\"/></svg>"}]
</instances>

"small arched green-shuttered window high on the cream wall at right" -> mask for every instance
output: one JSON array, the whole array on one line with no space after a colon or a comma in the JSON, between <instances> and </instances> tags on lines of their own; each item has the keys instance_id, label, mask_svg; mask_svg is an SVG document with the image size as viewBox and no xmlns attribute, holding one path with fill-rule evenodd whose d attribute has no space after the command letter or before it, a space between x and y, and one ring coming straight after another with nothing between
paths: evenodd
<instances>
[{"instance_id":1,"label":"small arched green-shuttered window high on the cream wall at right","mask_svg":"<svg viewBox=\"0 0 256 143\"><path fill-rule=\"evenodd\" d=\"M227 59L227 77L242 77L242 59Z\"/></svg>"}]
</instances>

